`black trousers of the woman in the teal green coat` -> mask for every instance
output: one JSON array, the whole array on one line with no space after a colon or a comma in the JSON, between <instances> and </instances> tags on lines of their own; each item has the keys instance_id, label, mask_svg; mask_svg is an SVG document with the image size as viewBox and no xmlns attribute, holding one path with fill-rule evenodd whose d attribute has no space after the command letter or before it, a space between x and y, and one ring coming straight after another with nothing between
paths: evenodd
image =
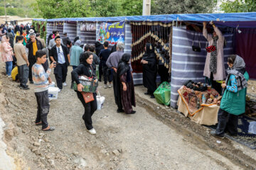
<instances>
[{"instance_id":1,"label":"black trousers of the woman in the teal green coat","mask_svg":"<svg viewBox=\"0 0 256 170\"><path fill-rule=\"evenodd\" d=\"M216 134L224 135L224 132L229 132L231 135L238 135L238 115L230 114L220 108L218 111Z\"/></svg>"}]
</instances>

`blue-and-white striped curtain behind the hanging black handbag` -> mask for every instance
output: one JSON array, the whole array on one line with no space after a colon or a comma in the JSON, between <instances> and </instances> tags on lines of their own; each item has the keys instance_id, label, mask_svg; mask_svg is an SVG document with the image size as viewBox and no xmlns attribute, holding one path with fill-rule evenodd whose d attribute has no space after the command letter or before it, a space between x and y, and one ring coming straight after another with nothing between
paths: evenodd
<instances>
[{"instance_id":1,"label":"blue-and-white striped curtain behind the hanging black handbag","mask_svg":"<svg viewBox=\"0 0 256 170\"><path fill-rule=\"evenodd\" d=\"M192 42L195 34L194 45L198 46L198 36L201 42L201 52L192 50ZM224 47L225 68L228 67L228 56L233 54L233 34L224 34L226 46ZM206 62L206 47L208 42L202 33L186 28L173 28L172 59L171 59L171 107L177 108L178 89L188 81L205 82L203 69Z\"/></svg>"}]
</instances>

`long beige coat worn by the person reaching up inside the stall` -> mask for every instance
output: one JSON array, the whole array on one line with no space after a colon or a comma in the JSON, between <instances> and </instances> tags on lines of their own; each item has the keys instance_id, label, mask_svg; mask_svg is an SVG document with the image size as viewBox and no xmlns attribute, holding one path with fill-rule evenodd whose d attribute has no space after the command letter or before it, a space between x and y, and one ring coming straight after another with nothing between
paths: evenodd
<instances>
[{"instance_id":1,"label":"long beige coat worn by the person reaching up inside the stall","mask_svg":"<svg viewBox=\"0 0 256 170\"><path fill-rule=\"evenodd\" d=\"M224 37L217 27L215 27L214 30L218 35L218 40L214 40L212 35L207 33L206 28L203 28L203 36L206 38L206 40L208 40L209 46L214 45L213 44L214 42L216 43L216 46L215 46L216 54L214 52L213 55L211 55L212 52L207 52L206 65L203 71L203 76L210 78L210 72L213 72L213 80L224 80L225 79L224 52L223 52Z\"/></svg>"}]
</instances>

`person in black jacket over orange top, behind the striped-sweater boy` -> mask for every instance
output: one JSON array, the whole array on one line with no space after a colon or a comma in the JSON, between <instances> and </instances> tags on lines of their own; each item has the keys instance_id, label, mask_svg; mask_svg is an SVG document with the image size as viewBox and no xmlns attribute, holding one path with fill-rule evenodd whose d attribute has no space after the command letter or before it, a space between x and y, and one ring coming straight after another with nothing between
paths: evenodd
<instances>
[{"instance_id":1,"label":"person in black jacket over orange top, behind the striped-sweater boy","mask_svg":"<svg viewBox=\"0 0 256 170\"><path fill-rule=\"evenodd\" d=\"M30 81L30 84L33 84L33 79L32 79L32 67L33 64L36 63L36 52L38 50L43 49L43 45L40 40L36 38L35 33L30 34L30 39L28 40L28 43L26 44L26 47L28 48L28 62L29 62L29 74L28 74L28 79ZM48 64L48 61L46 61ZM43 68L46 66L43 66ZM45 68L46 70L48 69Z\"/></svg>"}]
</instances>

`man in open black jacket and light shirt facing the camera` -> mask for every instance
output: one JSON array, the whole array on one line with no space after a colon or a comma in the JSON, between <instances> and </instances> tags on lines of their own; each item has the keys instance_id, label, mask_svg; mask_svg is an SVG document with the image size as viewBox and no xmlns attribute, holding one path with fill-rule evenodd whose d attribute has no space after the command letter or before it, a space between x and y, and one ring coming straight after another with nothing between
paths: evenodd
<instances>
[{"instance_id":1,"label":"man in open black jacket and light shirt facing the camera","mask_svg":"<svg viewBox=\"0 0 256 170\"><path fill-rule=\"evenodd\" d=\"M65 81L68 73L68 65L70 64L70 54L68 47L61 44L60 36L55 37L54 40L56 45L50 50L50 60L57 64L54 68L54 74L58 89L61 91L63 86L67 86Z\"/></svg>"}]
</instances>

